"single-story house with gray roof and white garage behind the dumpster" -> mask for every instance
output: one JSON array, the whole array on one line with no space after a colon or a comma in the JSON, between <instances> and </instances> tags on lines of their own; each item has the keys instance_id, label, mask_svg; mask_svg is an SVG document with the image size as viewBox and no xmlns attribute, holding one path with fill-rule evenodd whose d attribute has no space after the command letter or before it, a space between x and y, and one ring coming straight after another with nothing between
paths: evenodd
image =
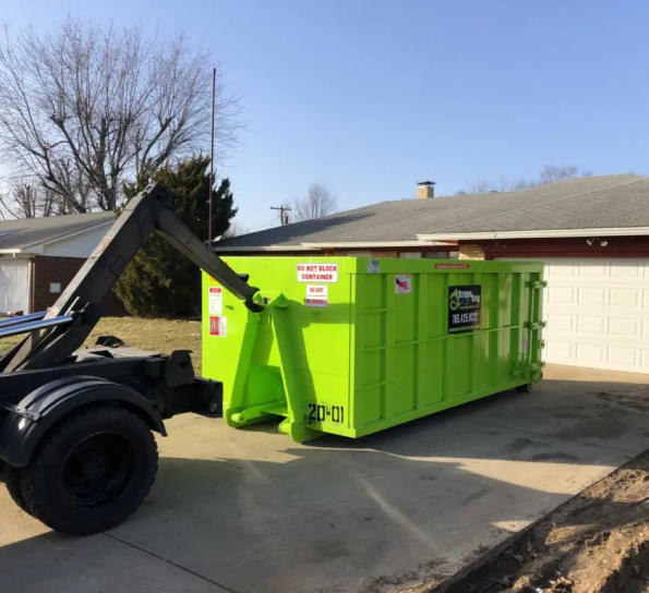
<instances>
[{"instance_id":1,"label":"single-story house with gray roof and white garage behind the dumpster","mask_svg":"<svg viewBox=\"0 0 649 593\"><path fill-rule=\"evenodd\" d=\"M548 362L649 374L649 178L383 202L219 243L219 252L540 261ZM428 195L428 197L426 197Z\"/></svg>"}]
</instances>

